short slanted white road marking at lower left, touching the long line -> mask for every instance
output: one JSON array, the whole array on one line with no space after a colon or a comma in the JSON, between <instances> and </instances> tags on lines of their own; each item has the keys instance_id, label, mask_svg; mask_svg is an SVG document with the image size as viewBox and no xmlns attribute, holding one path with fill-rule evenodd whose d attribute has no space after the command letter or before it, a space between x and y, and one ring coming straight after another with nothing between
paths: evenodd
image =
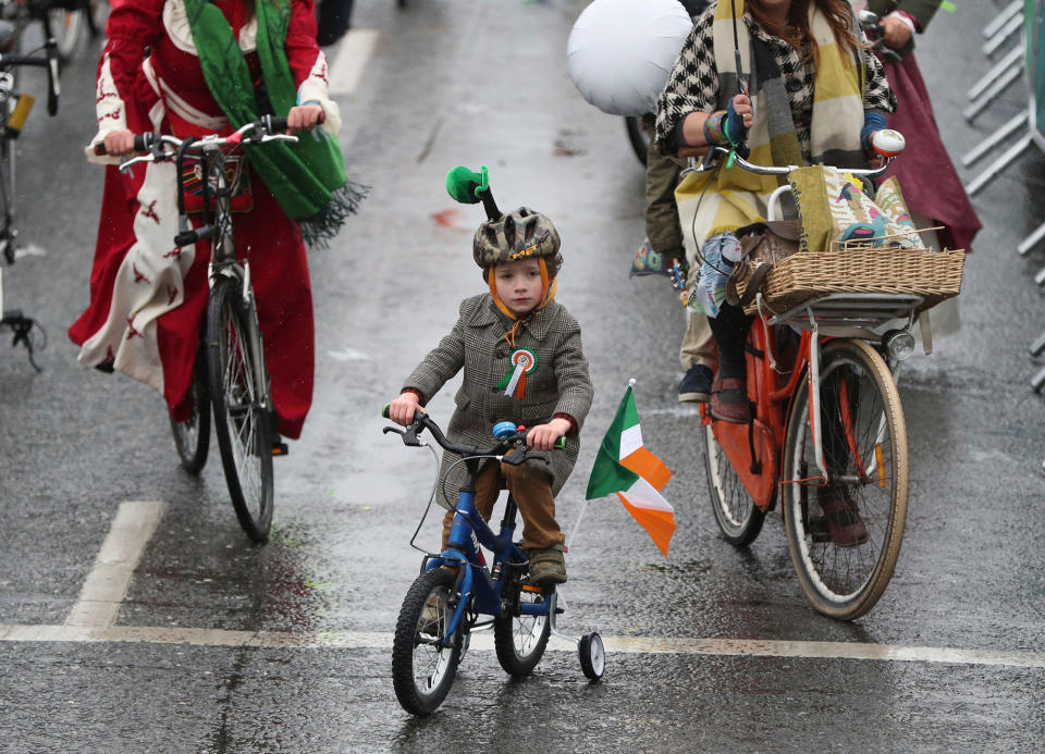
<instances>
[{"instance_id":1,"label":"short slanted white road marking at lower left, touching the long line","mask_svg":"<svg viewBox=\"0 0 1045 754\"><path fill-rule=\"evenodd\" d=\"M163 515L163 503L128 500L120 504L109 535L87 574L79 600L65 626L106 628L112 626L138 566L146 543Z\"/></svg>"}]
</instances>

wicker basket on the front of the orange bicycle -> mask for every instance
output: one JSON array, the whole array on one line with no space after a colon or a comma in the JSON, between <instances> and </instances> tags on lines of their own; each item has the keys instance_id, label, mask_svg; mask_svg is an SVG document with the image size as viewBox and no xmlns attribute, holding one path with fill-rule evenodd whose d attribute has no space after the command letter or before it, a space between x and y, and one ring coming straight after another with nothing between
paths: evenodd
<instances>
[{"instance_id":1,"label":"wicker basket on the front of the orange bicycle","mask_svg":"<svg viewBox=\"0 0 1045 754\"><path fill-rule=\"evenodd\" d=\"M963 250L847 248L799 252L770 271L762 298L773 311L783 312L825 294L914 294L924 298L918 308L921 311L961 293L964 264ZM749 270L737 281L740 296L750 277ZM743 310L758 313L757 301Z\"/></svg>"}]
</instances>

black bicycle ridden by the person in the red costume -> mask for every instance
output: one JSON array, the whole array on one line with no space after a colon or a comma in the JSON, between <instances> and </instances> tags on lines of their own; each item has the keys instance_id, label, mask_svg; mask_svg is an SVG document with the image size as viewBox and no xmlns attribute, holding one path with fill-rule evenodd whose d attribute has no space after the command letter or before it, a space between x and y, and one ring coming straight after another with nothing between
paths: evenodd
<instances>
[{"instance_id":1,"label":"black bicycle ridden by the person in the red costume","mask_svg":"<svg viewBox=\"0 0 1045 754\"><path fill-rule=\"evenodd\" d=\"M213 407L214 434L232 505L243 530L255 542L266 541L272 524L275 410L250 286L250 261L236 259L231 214L235 186L230 184L226 162L248 146L297 140L285 131L286 118L266 115L230 136L180 139L144 134L135 136L134 148L148 153L120 166L130 170L139 162L175 162L179 227L186 230L174 236L174 244L211 242L207 324L193 367L193 412L185 421L172 418L171 430L182 466L198 474L207 462ZM96 151L103 154L103 146L98 145ZM195 175L184 170L186 161L198 163L201 176L204 224L196 228L190 228L184 209L185 182Z\"/></svg>"}]
</instances>

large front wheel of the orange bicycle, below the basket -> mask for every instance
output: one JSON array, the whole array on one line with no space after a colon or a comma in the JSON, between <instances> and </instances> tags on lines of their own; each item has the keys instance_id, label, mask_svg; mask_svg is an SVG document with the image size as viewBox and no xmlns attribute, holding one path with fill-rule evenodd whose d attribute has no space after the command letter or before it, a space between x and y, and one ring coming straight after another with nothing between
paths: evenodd
<instances>
[{"instance_id":1,"label":"large front wheel of the orange bicycle, below the basket","mask_svg":"<svg viewBox=\"0 0 1045 754\"><path fill-rule=\"evenodd\" d=\"M907 425L885 361L863 341L824 346L820 374L822 486L809 391L796 394L784 452L784 521L806 596L824 615L870 610L893 576L907 519Z\"/></svg>"}]
</instances>

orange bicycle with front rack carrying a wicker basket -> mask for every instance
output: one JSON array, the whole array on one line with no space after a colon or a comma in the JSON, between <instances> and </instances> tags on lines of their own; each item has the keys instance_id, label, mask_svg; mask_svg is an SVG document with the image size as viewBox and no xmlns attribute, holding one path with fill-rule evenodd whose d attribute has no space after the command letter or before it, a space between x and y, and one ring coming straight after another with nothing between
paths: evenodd
<instances>
[{"instance_id":1,"label":"orange bicycle with front rack carrying a wicker basket","mask_svg":"<svg viewBox=\"0 0 1045 754\"><path fill-rule=\"evenodd\" d=\"M761 174L794 170L733 159ZM701 405L712 508L725 539L742 547L779 499L802 591L820 613L851 620L882 596L903 539L908 443L896 380L924 299L834 293L780 313L757 300L747 344L751 422L720 421Z\"/></svg>"}]
</instances>

